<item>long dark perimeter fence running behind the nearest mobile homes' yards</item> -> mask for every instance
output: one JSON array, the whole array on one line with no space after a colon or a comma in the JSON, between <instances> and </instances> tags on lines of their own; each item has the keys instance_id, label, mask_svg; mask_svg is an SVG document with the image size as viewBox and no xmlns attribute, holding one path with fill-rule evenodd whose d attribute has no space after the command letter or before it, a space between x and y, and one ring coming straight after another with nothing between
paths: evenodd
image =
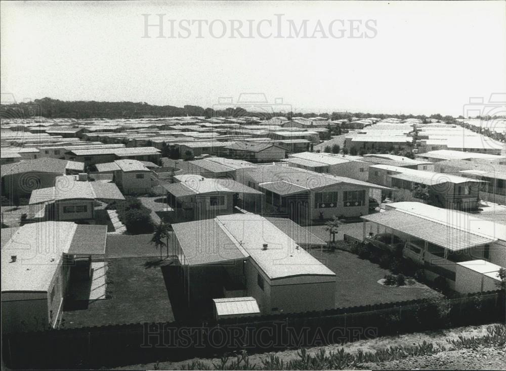
<instances>
[{"instance_id":1,"label":"long dark perimeter fence running behind the nearest mobile homes' yards","mask_svg":"<svg viewBox=\"0 0 506 371\"><path fill-rule=\"evenodd\" d=\"M11 368L98 368L345 343L379 336L504 322L503 290L216 322L132 323L3 336Z\"/></svg>"}]
</instances>

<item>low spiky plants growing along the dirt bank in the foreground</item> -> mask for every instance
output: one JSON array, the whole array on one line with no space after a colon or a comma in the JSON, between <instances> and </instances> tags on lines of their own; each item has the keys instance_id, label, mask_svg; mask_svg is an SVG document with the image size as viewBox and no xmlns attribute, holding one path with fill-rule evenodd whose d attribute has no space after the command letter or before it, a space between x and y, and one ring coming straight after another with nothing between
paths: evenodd
<instances>
[{"instance_id":1,"label":"low spiky plants growing along the dirt bank in the foreground","mask_svg":"<svg viewBox=\"0 0 506 371\"><path fill-rule=\"evenodd\" d=\"M484 336L459 336L457 340L447 340L450 347L443 344L428 343L424 341L416 345L391 346L376 352L364 352L358 350L350 353L341 348L335 352L327 352L320 349L312 355L306 349L297 352L298 358L283 361L275 354L261 360L261 363L251 363L248 354L243 351L235 357L225 354L220 362L208 364L202 361L193 361L181 367L181 369L251 369L251 370L298 370L298 369L343 369L359 368L368 362L385 362L414 356L434 355L447 350L469 349L478 346L504 348L506 346L506 327L503 324L494 324L487 328ZM155 369L158 369L155 364Z\"/></svg>"}]
</instances>

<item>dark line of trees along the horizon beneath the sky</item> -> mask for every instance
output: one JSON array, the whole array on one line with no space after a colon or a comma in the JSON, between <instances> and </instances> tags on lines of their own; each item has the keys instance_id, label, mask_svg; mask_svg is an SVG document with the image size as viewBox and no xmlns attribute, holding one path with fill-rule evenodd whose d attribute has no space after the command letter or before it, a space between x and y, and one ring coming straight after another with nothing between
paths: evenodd
<instances>
[{"instance_id":1,"label":"dark line of trees along the horizon beneath the sky","mask_svg":"<svg viewBox=\"0 0 506 371\"><path fill-rule=\"evenodd\" d=\"M146 102L97 102L97 101L60 101L58 99L43 98L35 99L32 102L22 102L16 104L1 105L1 117L8 118L31 118L42 116L46 118L73 118L73 119L92 119L92 118L159 118L159 117L178 117L178 116L203 116L212 117L244 117L252 116L261 119L270 119L276 116L285 116L288 119L292 117L323 117L330 120L351 120L352 118L366 119L376 117L385 119L395 117L399 119L417 118L426 120L433 118L452 122L455 120L452 116L442 116L441 114L426 115L404 115L404 114L385 114L385 113L362 113L362 112L332 112L329 113L302 113L302 112L252 112L241 107L229 107L226 109L214 110L213 108L203 108L200 106L185 105L176 106L156 106ZM460 118L460 116L459 116Z\"/></svg>"}]
</instances>

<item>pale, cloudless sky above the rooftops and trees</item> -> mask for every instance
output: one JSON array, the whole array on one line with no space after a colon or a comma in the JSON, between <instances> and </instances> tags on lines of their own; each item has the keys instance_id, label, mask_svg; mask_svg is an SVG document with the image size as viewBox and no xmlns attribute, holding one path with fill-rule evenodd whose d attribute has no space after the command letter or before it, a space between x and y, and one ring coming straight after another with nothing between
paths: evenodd
<instances>
[{"instance_id":1,"label":"pale, cloudless sky above the rooftops and trees","mask_svg":"<svg viewBox=\"0 0 506 371\"><path fill-rule=\"evenodd\" d=\"M255 93L294 112L457 116L470 98L487 103L506 92L503 1L3 1L0 8L3 101L206 108Z\"/></svg>"}]
</instances>

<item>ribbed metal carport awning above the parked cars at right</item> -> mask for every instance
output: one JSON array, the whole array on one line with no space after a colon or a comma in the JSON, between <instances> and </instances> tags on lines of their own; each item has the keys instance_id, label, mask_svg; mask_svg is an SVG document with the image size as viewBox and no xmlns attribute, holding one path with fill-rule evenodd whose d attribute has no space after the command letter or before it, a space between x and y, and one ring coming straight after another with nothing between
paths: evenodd
<instances>
[{"instance_id":1,"label":"ribbed metal carport awning above the parked cars at right","mask_svg":"<svg viewBox=\"0 0 506 371\"><path fill-rule=\"evenodd\" d=\"M474 246L490 244L495 241L398 210L364 215L362 219L398 230L451 251L465 250Z\"/></svg>"}]
</instances>

